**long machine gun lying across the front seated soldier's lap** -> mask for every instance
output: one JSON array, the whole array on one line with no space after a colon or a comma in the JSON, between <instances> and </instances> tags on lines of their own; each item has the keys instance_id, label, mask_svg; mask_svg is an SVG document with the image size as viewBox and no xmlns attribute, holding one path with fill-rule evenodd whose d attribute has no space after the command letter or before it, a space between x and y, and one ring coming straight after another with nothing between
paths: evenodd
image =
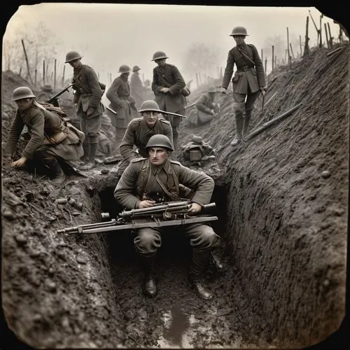
<instances>
[{"instance_id":1,"label":"long machine gun lying across the front seated soldier's lap","mask_svg":"<svg viewBox=\"0 0 350 350\"><path fill-rule=\"evenodd\" d=\"M217 216L189 216L189 201L162 202L150 208L124 210L116 219L102 223L73 226L57 230L57 233L85 235L89 233L114 232L119 230L134 230L137 228L160 228L163 226L186 225L188 223L204 223L217 221ZM202 209L216 207L215 203L202 206ZM108 215L107 215L108 216ZM104 215L104 218L107 217Z\"/></svg>"}]
</instances>

